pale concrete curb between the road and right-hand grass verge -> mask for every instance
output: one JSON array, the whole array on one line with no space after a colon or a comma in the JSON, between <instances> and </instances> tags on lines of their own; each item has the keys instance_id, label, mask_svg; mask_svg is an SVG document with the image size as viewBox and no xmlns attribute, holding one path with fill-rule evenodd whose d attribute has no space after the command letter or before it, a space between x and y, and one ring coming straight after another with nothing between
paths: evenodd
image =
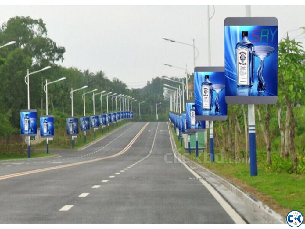
<instances>
[{"instance_id":1,"label":"pale concrete curb between the road and right-hand grass verge","mask_svg":"<svg viewBox=\"0 0 305 229\"><path fill-rule=\"evenodd\" d=\"M173 137L171 131L170 131L171 136ZM175 143L175 141L174 141ZM183 156L178 152L177 150L177 146L175 144L175 152L177 155L179 155L179 157L181 158L181 160L183 159ZM236 197L238 197L239 199L242 200L242 202L244 202L250 209L252 209L254 212L256 212L262 219L266 220L268 223L274 223L274 224L283 224L285 223L285 219L278 213L276 213L273 209L271 209L269 206L263 204L261 201L255 199L253 196L246 194L244 191L242 191L239 187L236 187L234 184L230 183L228 180L225 180L224 178L222 178L221 176L218 176L217 174L213 173L212 171L210 171L209 169L206 169L205 167L203 167L202 165L197 164L196 162L193 162L192 160L188 159L191 162L190 163L185 163L188 167L190 167L191 169L195 170L195 172L197 174L199 174L199 176L201 176L200 174L200 169L204 170L205 173L208 173L210 177L214 178L215 180L217 180L218 183L222 184L223 186L225 186L226 188L228 188L232 193L235 194ZM208 182L210 185L212 185L214 187L215 190L217 190L218 193L221 194L220 190L218 189L218 187L216 187L215 185L213 185L211 182L209 182L208 179L206 179L205 177L201 176L206 182ZM223 195L222 195L223 196ZM224 196L223 196L224 197ZM224 197L225 198L225 197ZM229 203L229 201L227 200L227 202ZM231 205L231 203L230 203ZM234 207L234 206L232 206ZM236 209L235 209L236 210ZM241 214L241 213L239 213Z\"/></svg>"}]
</instances>

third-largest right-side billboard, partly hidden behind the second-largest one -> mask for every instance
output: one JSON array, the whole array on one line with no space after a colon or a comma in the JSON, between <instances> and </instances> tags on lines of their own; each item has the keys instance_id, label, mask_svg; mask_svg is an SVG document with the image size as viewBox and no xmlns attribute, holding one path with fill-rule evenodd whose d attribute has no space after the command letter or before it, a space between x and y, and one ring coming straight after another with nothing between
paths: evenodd
<instances>
[{"instance_id":1,"label":"third-largest right-side billboard, partly hidden behind the second-largest one","mask_svg":"<svg viewBox=\"0 0 305 229\"><path fill-rule=\"evenodd\" d=\"M196 120L194 100L186 100L185 114L186 114L186 131L188 132L205 131L206 121Z\"/></svg>"}]
</instances>

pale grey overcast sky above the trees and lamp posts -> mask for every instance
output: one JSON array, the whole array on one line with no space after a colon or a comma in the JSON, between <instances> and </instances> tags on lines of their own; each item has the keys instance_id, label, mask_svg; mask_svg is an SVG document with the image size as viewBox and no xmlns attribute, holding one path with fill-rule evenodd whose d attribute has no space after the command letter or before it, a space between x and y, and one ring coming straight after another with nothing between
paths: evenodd
<instances>
[{"instance_id":1,"label":"pale grey overcast sky above the trees and lamp posts","mask_svg":"<svg viewBox=\"0 0 305 229\"><path fill-rule=\"evenodd\" d=\"M66 48L66 67L102 70L127 83L143 87L154 77L182 76L183 70L163 66L188 65L193 49L162 37L192 43L199 49L196 66L207 65L207 6L1 6L0 22L14 16L42 18L48 35ZM213 8L210 7L210 15ZM305 26L305 6L251 6L251 16L278 18L279 39L288 30ZM211 20L211 63L224 65L223 21L245 16L245 6L215 6ZM290 37L302 30L292 31ZM299 41L305 42L305 35Z\"/></svg>"}]
</instances>

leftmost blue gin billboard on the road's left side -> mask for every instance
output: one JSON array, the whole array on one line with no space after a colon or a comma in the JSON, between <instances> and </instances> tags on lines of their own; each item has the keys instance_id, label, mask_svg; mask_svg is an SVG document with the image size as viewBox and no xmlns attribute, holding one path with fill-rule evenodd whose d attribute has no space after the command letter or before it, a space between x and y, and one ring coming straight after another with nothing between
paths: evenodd
<instances>
[{"instance_id":1,"label":"leftmost blue gin billboard on the road's left side","mask_svg":"<svg viewBox=\"0 0 305 229\"><path fill-rule=\"evenodd\" d=\"M20 111L20 133L23 136L35 136L37 134L37 110Z\"/></svg>"}]
</instances>

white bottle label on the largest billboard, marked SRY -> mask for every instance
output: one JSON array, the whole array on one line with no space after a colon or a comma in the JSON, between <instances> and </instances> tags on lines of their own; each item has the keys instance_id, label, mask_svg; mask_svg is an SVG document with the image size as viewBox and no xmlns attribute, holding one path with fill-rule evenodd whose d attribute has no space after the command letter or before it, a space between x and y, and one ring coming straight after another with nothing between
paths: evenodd
<instances>
[{"instance_id":1,"label":"white bottle label on the largest billboard, marked SRY","mask_svg":"<svg viewBox=\"0 0 305 229\"><path fill-rule=\"evenodd\" d=\"M237 84L249 85L248 72L249 51L245 48L237 49Z\"/></svg>"}]
</instances>

